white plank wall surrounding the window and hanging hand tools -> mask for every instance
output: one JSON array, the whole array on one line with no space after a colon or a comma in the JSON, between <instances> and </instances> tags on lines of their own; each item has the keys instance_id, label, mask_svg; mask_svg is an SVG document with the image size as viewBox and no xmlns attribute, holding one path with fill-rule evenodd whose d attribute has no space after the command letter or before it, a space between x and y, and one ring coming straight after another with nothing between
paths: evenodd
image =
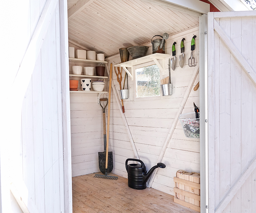
<instances>
[{"instance_id":1,"label":"white plank wall surrounding the window and hanging hand tools","mask_svg":"<svg viewBox=\"0 0 256 213\"><path fill-rule=\"evenodd\" d=\"M185 65L181 69L177 61L175 71L171 70L171 79L173 83L173 95L161 96L159 98L135 98L135 85L129 78L129 99L124 100L125 117L128 122L133 140L135 142L138 155L144 161L147 170L156 165L161 149L164 145L166 137L170 131L172 122L178 112L180 103L184 97L187 86L193 75L195 67L188 66L188 58L190 57L190 43L194 35L198 36L198 27L187 30L184 33L179 33L170 36L165 44L165 51L171 54L171 47L174 41L176 45L176 55L180 55L180 41L184 37L185 41ZM198 38L197 38L198 39ZM196 39L196 51L194 53L196 62L198 62L198 40ZM151 45L148 45L147 54L152 53ZM119 54L106 59L109 64L120 63ZM165 75L168 76L168 59L165 61ZM124 78L123 72L123 78ZM116 74L113 72L113 81L116 89L119 90L119 83L117 82ZM194 86L198 83L199 76L197 76ZM193 88L194 88L193 86ZM110 113L110 144L114 156L113 172L117 175L127 177L125 169L125 160L133 158L134 152L131 149L129 138L120 111L113 95L111 102ZM199 90L192 91L185 104L182 113L194 112L193 102L199 106ZM122 149L119 146L122 145ZM117 158L118 156L118 158ZM199 165L199 139L186 138L184 132L178 122L172 138L169 142L168 148L165 152L162 162L167 165L165 169L159 169L152 187L173 194L173 176L176 175L177 170L184 169L193 172L200 171Z\"/></svg>"}]
</instances>

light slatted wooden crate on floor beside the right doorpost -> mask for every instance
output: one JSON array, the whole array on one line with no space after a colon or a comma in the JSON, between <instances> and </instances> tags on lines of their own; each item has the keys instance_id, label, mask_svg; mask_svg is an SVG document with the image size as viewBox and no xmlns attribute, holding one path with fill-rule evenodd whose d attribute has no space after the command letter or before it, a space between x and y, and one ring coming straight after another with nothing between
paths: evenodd
<instances>
[{"instance_id":1,"label":"light slatted wooden crate on floor beside the right doorpost","mask_svg":"<svg viewBox=\"0 0 256 213\"><path fill-rule=\"evenodd\" d=\"M177 172L174 180L174 202L200 212L200 175Z\"/></svg>"}]
</instances>

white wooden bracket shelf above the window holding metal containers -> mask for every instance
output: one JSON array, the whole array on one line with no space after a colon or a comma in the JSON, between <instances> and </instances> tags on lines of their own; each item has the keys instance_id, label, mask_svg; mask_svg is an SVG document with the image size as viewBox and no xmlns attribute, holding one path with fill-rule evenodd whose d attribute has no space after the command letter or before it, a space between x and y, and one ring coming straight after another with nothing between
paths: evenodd
<instances>
[{"instance_id":1,"label":"white wooden bracket shelf above the window holding metal containers","mask_svg":"<svg viewBox=\"0 0 256 213\"><path fill-rule=\"evenodd\" d=\"M151 61L155 62L155 64L159 67L160 71L164 75L164 69L165 69L164 59L168 57L170 57L170 54L154 53L152 55L147 55L141 58L133 59L131 61L116 64L114 66L122 67L127 72L127 74L131 77L131 80L133 81L133 66L144 64ZM159 59L162 61L162 65L157 61ZM127 70L127 67L131 68L131 72Z\"/></svg>"}]
</instances>

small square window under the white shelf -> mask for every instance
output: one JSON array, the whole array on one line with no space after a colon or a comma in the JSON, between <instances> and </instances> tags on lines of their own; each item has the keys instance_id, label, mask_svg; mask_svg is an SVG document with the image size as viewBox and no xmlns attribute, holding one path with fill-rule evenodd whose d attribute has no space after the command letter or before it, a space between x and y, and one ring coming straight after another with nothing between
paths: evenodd
<instances>
[{"instance_id":1,"label":"small square window under the white shelf","mask_svg":"<svg viewBox=\"0 0 256 213\"><path fill-rule=\"evenodd\" d=\"M160 96L160 70L154 64L135 69L136 98Z\"/></svg>"}]
</instances>

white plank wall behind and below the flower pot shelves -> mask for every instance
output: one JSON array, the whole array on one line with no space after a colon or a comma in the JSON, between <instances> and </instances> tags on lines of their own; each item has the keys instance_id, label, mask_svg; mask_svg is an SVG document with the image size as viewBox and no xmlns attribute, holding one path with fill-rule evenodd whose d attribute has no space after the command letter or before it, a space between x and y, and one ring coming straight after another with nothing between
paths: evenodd
<instances>
[{"instance_id":1,"label":"white plank wall behind and below the flower pot shelves","mask_svg":"<svg viewBox=\"0 0 256 213\"><path fill-rule=\"evenodd\" d=\"M71 43L69 46L75 47L75 50L83 49ZM72 74L74 65L92 66L83 62L69 62L70 74ZM95 69L94 75L96 75ZM79 80L80 78L73 79ZM97 78L93 80L97 80ZM97 93L70 93L72 177L100 172L98 152L104 151L103 118L102 108L97 104L97 95ZM104 97L107 96L102 94L101 98Z\"/></svg>"}]
</instances>

